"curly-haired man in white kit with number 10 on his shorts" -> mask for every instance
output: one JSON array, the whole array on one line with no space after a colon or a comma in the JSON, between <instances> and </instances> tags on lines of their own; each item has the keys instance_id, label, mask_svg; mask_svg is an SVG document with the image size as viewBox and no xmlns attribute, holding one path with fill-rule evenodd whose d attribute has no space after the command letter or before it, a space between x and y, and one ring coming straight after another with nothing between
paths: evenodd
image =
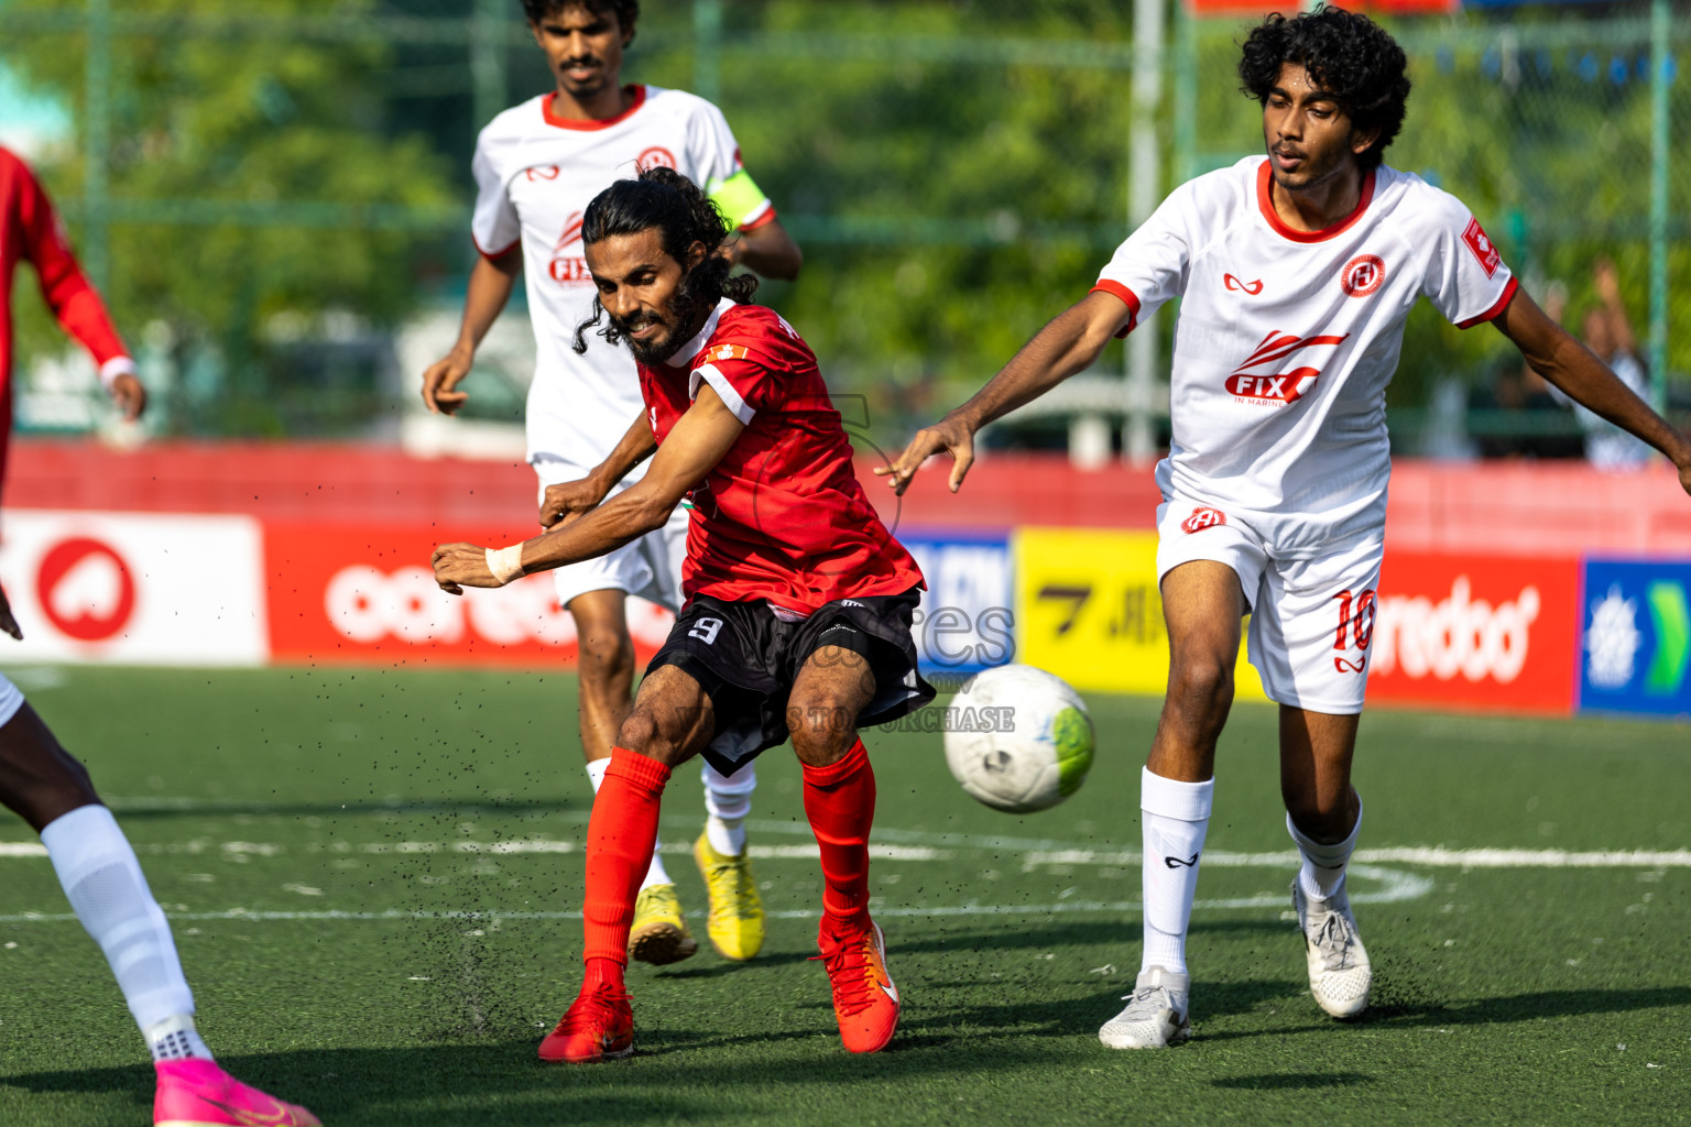
<instances>
[{"instance_id":1,"label":"curly-haired man in white kit with number 10 on his shorts","mask_svg":"<svg viewBox=\"0 0 1691 1127\"><path fill-rule=\"evenodd\" d=\"M1280 705L1311 992L1334 1017L1368 1004L1344 892L1361 823L1351 757L1385 531L1385 385L1415 301L1464 328L1497 326L1547 380L1672 458L1691 492L1691 439L1544 316L1468 208L1380 162L1404 122L1404 69L1363 15L1268 17L1240 63L1268 155L1177 188L1084 301L883 470L903 490L944 449L955 492L981 426L1182 299L1172 441L1157 466L1170 672L1140 789L1145 955L1128 1005L1099 1029L1111 1048L1190 1036L1185 933L1246 613L1250 661Z\"/></svg>"}]
</instances>

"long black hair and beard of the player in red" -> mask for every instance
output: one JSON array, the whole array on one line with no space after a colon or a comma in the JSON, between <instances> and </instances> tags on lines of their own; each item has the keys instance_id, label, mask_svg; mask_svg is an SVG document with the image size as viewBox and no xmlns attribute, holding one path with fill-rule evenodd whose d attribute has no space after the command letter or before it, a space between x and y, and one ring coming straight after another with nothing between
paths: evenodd
<instances>
[{"instance_id":1,"label":"long black hair and beard of the player in red","mask_svg":"<svg viewBox=\"0 0 1691 1127\"><path fill-rule=\"evenodd\" d=\"M752 274L731 274L734 264L717 250L729 238L729 223L722 211L710 201L698 184L687 179L675 169L649 167L639 179L617 181L605 191L594 196L582 215L582 245L592 245L612 235L639 235L651 228L663 231L663 252L676 262L687 262L687 252L693 243L703 243L705 257L698 265L681 275L676 291L676 314L681 324L697 316L700 309L712 309L722 297L731 297L737 304L746 304L758 292L758 279ZM594 297L594 316L575 326L575 351L587 351L587 333L605 321L599 329L612 345L622 343L622 333L616 321L605 314L605 308Z\"/></svg>"}]
</instances>

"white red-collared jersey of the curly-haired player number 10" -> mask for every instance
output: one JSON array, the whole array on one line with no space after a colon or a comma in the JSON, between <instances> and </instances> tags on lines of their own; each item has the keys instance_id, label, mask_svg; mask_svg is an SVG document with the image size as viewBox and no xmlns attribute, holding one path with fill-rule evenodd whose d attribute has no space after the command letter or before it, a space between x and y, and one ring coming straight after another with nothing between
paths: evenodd
<instances>
[{"instance_id":1,"label":"white red-collared jersey of the curly-haired player number 10","mask_svg":"<svg viewBox=\"0 0 1691 1127\"><path fill-rule=\"evenodd\" d=\"M1295 231L1267 157L1177 188L1097 289L1143 321L1180 297L1165 497L1248 519L1275 554L1307 558L1385 524L1385 387L1422 296L1461 328L1498 316L1515 280L1468 208L1380 167L1324 231Z\"/></svg>"}]
</instances>

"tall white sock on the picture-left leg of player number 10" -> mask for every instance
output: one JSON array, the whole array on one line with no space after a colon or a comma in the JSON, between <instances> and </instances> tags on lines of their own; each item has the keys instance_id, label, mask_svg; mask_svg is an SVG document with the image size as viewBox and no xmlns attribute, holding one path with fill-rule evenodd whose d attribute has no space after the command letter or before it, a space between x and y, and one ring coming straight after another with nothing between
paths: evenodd
<instances>
[{"instance_id":1,"label":"tall white sock on the picture-left leg of player number 10","mask_svg":"<svg viewBox=\"0 0 1691 1127\"><path fill-rule=\"evenodd\" d=\"M1175 782L1140 776L1140 811L1145 831L1145 955L1140 970L1162 966L1185 973L1185 931L1197 894L1197 862L1204 853L1209 808L1216 781Z\"/></svg>"}]
</instances>

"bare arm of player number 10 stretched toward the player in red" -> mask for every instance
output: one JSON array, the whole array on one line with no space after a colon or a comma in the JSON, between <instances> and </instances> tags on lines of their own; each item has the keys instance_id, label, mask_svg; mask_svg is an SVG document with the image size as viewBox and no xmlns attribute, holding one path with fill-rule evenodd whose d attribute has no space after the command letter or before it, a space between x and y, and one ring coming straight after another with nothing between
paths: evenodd
<instances>
[{"instance_id":1,"label":"bare arm of player number 10 stretched toward the player in red","mask_svg":"<svg viewBox=\"0 0 1691 1127\"><path fill-rule=\"evenodd\" d=\"M955 493L974 463L974 433L1089 368L1104 345L1133 324L1133 309L1114 294L1092 291L1023 345L969 402L917 431L905 453L893 465L878 466L876 473L903 493L928 455L945 449L955 461L950 476L950 492Z\"/></svg>"}]
</instances>

